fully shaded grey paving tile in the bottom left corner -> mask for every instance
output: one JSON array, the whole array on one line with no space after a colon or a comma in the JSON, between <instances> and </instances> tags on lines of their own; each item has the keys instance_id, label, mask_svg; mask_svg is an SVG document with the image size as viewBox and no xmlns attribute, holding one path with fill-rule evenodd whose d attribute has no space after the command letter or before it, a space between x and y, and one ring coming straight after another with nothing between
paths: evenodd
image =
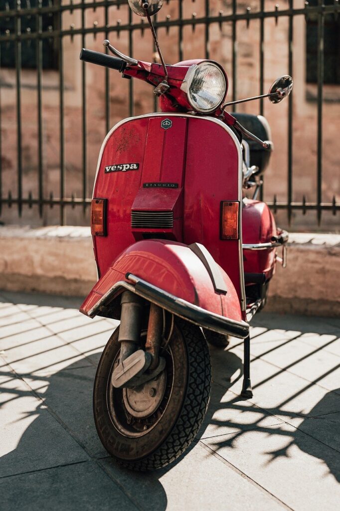
<instances>
[{"instance_id":1,"label":"fully shaded grey paving tile in the bottom left corner","mask_svg":"<svg viewBox=\"0 0 340 511\"><path fill-rule=\"evenodd\" d=\"M22 474L0 479L3 511L137 511L95 462Z\"/></svg>"}]
</instances>

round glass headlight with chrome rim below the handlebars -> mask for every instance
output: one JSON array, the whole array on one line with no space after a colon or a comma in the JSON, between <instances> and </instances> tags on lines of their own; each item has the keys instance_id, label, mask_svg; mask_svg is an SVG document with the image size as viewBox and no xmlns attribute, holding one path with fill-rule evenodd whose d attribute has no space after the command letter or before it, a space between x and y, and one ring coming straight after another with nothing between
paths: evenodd
<instances>
[{"instance_id":1,"label":"round glass headlight with chrome rim below the handlebars","mask_svg":"<svg viewBox=\"0 0 340 511\"><path fill-rule=\"evenodd\" d=\"M204 61L188 69L181 89L186 92L193 110L213 112L226 96L226 77L218 64Z\"/></svg>"}]
</instances>

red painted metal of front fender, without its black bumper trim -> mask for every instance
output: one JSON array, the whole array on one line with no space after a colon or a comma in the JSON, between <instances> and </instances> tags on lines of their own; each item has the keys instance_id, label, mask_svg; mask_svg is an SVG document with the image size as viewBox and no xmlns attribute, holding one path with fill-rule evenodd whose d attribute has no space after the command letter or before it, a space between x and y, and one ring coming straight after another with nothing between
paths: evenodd
<instances>
[{"instance_id":1,"label":"red painted metal of front fender, without its black bumper trim","mask_svg":"<svg viewBox=\"0 0 340 511\"><path fill-rule=\"evenodd\" d=\"M80 310L91 316L95 305L108 295L115 284L129 282L127 274L132 273L176 299L185 300L210 313L241 321L237 292L227 273L222 268L219 271L226 292L215 290L206 266L189 246L169 240L139 241L124 250L110 265Z\"/></svg>"}]
</instances>

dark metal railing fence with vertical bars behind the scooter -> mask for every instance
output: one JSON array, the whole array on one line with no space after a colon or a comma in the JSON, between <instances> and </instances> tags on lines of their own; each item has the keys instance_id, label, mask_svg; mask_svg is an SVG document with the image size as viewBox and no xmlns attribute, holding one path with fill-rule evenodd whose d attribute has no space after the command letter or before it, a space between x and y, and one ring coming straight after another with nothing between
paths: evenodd
<instances>
[{"instance_id":1,"label":"dark metal railing fence with vertical bars behind the scooter","mask_svg":"<svg viewBox=\"0 0 340 511\"><path fill-rule=\"evenodd\" d=\"M186 4L190 0L186 0ZM165 0L166 2L166 0ZM195 12L191 13L190 16L184 16L184 0L168 0L166 3L176 4L177 16L172 18L170 16L161 16L162 11L155 19L155 28L165 28L169 30L176 27L178 30L177 37L177 53L179 60L183 57L183 30L189 26L192 30L195 30L197 26L204 27L204 47L205 57L209 58L209 32L210 27L215 24L220 29L228 24L231 27L232 32L232 68L231 74L233 77L232 81L232 100L238 98L238 76L237 76L237 62L238 62L238 48L237 48L237 27L238 24L246 21L246 26L253 20L258 20L259 23L259 94L264 94L264 31L265 21L269 18L274 19L276 22L280 18L286 18L288 20L287 30L287 51L288 51L288 73L293 74L293 59L294 59L294 45L293 45L293 25L296 16L303 16L308 19L313 19L314 23L314 47L315 47L315 58L316 66L315 81L317 82L317 165L314 169L317 177L317 193L316 201L308 202L305 197L301 202L293 202L293 97L289 97L288 106L288 135L287 135L287 197L283 202L278 202L274 197L274 200L270 202L270 206L273 210L286 210L288 221L292 217L292 213L295 210L301 211L305 214L308 210L314 210L317 214L317 219L320 224L322 212L331 211L333 215L339 210L340 205L336 203L335 197L333 200L325 203L323 202L323 90L324 90L324 38L325 38L325 20L328 19L338 20L339 5L338 0L328 0L328 2L322 2L322 0L313 0L308 4L305 3L303 8L294 7L294 0L285 0L282 6L276 5L273 8L265 9L264 0L259 0L258 8L254 11L251 7L247 7L245 4L240 6L237 0L230 0L229 2L221 1L221 10L214 10L214 14L211 13L211 3L209 0L202 0L201 4L204 7L204 15L197 15ZM195 7L195 0L191 0L193 7ZM327 5L325 5L325 3ZM17 138L17 156L16 156L16 169L13 173L12 179L12 190L3 194L2 189L2 159L0 160L0 213L5 207L16 207L18 215L25 215L26 208L37 207L40 216L43 215L44 208L59 208L59 222L60 224L65 223L65 211L67 208L82 208L84 215L88 214L88 206L90 204L90 197L87 190L87 98L86 98L86 65L82 63L81 67L81 144L82 144L82 196L75 197L74 194L67 196L65 193L65 180L67 179L67 169L65 167L65 123L64 123L64 52L63 52L63 39L74 38L79 35L82 38L82 45L86 46L85 38L88 34L99 34L105 35L105 38L109 38L110 34L122 34L128 35L129 41L129 54L133 55L133 33L139 31L142 35L147 26L143 19L134 19L131 12L129 11L128 22L116 22L116 24L109 24L108 10L111 6L118 6L121 9L128 9L127 0L101 0L101 1L88 1L88 2L73 2L69 0L69 3L64 3L61 0L56 2L53 0L0 0L0 62L2 62L3 69L6 66L12 66L15 69L15 103L16 103L16 138ZM215 2L216 4L216 2ZM227 12L224 9L228 7ZM95 10L102 8L105 13L105 22L103 26L93 24L87 26L85 14L89 10ZM81 14L81 26L76 28L75 26L66 27L63 22L63 16L65 13L78 11ZM166 41L163 41L163 45ZM337 62L337 66L338 66ZM23 178L23 152L22 152L22 115L21 115L21 69L22 67L31 67L36 73L37 88L36 94L37 101L37 169L36 169L36 181L37 187L36 193L29 192L26 196L23 193L22 178ZM60 159L60 179L59 179L59 196L55 197L52 193L46 192L44 189L44 154L43 154L43 123L42 123L42 76L44 69L55 67L59 73L59 159ZM0 69L0 73L3 71ZM313 71L311 71L313 73ZM109 73L106 70L105 74L105 128L110 128L110 100L109 100ZM1 90L1 95L6 94L6 89ZM134 88L133 83L130 81L128 87L129 94L129 109L130 114L134 112ZM1 108L1 103L0 103ZM259 113L263 113L263 100L259 103ZM0 117L1 124L1 117ZM0 125L1 128L1 125ZM0 129L0 153L6 152L6 147L2 145L1 138L2 130Z\"/></svg>"}]
</instances>

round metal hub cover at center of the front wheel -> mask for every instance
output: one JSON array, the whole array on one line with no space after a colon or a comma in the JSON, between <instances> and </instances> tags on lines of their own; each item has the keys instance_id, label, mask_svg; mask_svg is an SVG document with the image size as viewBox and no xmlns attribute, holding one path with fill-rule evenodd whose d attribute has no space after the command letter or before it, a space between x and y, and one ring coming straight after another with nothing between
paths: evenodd
<instances>
[{"instance_id":1,"label":"round metal hub cover at center of the front wheel","mask_svg":"<svg viewBox=\"0 0 340 511\"><path fill-rule=\"evenodd\" d=\"M137 419L145 419L152 415L163 399L165 384L165 371L162 371L156 378L143 385L123 389L123 400L128 412Z\"/></svg>"}]
</instances>

